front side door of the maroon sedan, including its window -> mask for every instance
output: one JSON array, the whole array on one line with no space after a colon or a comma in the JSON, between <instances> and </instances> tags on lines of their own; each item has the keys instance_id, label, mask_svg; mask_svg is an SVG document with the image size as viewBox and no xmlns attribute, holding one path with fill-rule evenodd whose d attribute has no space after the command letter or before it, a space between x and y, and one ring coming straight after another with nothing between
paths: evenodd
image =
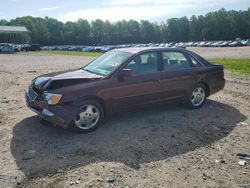
<instances>
[{"instance_id":1,"label":"front side door of the maroon sedan, including its window","mask_svg":"<svg viewBox=\"0 0 250 188\"><path fill-rule=\"evenodd\" d=\"M113 108L122 111L162 100L157 52L137 55L125 68L132 69L133 76L114 79L113 87L108 89Z\"/></svg>"}]
</instances>

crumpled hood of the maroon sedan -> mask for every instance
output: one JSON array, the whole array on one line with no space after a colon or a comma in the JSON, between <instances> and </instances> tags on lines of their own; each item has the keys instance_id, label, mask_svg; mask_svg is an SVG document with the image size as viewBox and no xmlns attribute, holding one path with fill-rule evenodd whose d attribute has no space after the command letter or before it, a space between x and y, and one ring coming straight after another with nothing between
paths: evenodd
<instances>
[{"instance_id":1,"label":"crumpled hood of the maroon sedan","mask_svg":"<svg viewBox=\"0 0 250 188\"><path fill-rule=\"evenodd\" d=\"M103 78L103 76L78 69L41 75L32 81L32 86L38 90L54 90L101 78Z\"/></svg>"}]
</instances>

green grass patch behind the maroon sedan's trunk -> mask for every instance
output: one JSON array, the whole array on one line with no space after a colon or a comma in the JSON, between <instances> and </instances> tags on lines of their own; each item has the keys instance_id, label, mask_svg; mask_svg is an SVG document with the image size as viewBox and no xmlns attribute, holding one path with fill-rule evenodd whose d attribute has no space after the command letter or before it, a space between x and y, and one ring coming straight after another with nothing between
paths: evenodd
<instances>
[{"instance_id":1,"label":"green grass patch behind the maroon sedan's trunk","mask_svg":"<svg viewBox=\"0 0 250 188\"><path fill-rule=\"evenodd\" d=\"M250 76L250 59L209 59L209 61L222 64L226 70L233 73Z\"/></svg>"}]
</instances>

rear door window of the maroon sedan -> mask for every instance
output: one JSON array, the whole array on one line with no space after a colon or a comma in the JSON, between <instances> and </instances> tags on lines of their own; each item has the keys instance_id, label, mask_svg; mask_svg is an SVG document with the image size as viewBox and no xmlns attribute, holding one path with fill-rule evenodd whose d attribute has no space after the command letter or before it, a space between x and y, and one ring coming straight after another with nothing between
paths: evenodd
<instances>
[{"instance_id":1,"label":"rear door window of the maroon sedan","mask_svg":"<svg viewBox=\"0 0 250 188\"><path fill-rule=\"evenodd\" d=\"M190 68L188 59L180 52L163 52L163 68L165 71Z\"/></svg>"}]
</instances>

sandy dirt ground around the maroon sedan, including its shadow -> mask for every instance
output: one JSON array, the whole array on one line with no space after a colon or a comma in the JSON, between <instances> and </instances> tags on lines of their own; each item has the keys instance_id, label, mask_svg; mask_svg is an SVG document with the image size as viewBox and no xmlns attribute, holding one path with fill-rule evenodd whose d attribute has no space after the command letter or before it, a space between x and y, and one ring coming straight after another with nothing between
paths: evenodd
<instances>
[{"instance_id":1,"label":"sandy dirt ground around the maroon sedan, including its shadow","mask_svg":"<svg viewBox=\"0 0 250 188\"><path fill-rule=\"evenodd\" d=\"M82 135L26 108L32 78L91 59L0 55L0 187L250 187L250 161L236 156L250 154L250 78L226 73L200 110L154 106Z\"/></svg>"}]
</instances>

